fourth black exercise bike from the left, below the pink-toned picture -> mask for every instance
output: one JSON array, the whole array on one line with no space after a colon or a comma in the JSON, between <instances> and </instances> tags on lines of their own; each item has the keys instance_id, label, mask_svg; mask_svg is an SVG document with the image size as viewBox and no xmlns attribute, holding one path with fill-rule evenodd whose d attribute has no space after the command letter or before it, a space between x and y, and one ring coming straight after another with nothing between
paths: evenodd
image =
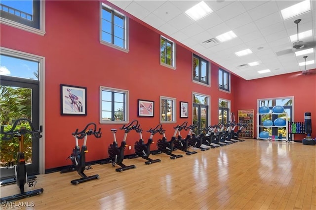
<instances>
[{"instance_id":1,"label":"fourth black exercise bike from the left, below the pink-toned picture","mask_svg":"<svg viewBox=\"0 0 316 210\"><path fill-rule=\"evenodd\" d=\"M152 143L154 143L153 141L153 136L159 132L159 126L161 128L161 124L159 124L156 128L154 129L149 129L149 132L151 135L147 141L147 143L144 142L143 140L143 136L142 136L142 129L139 128L140 125L138 125L137 128L135 128L136 132L139 133L139 140L135 142L134 144L134 150L135 150L135 153L140 156L141 158L147 160L145 162L146 165L150 165L152 163L158 163L160 162L161 160L160 159L156 159L156 160L153 160L151 158L149 158L149 155L150 155L150 145Z\"/></svg>"}]
</instances>

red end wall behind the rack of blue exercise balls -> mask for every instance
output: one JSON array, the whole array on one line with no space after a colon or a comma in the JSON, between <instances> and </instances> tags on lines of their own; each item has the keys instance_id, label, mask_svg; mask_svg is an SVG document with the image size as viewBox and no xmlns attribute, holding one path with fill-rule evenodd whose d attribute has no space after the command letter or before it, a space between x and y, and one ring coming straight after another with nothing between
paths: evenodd
<instances>
[{"instance_id":1,"label":"red end wall behind the rack of blue exercise balls","mask_svg":"<svg viewBox=\"0 0 316 210\"><path fill-rule=\"evenodd\" d=\"M235 85L236 109L254 109L255 114L258 112L258 99L294 96L295 122L304 122L304 113L311 112L312 137L316 137L316 74L295 72L248 81L236 77ZM295 135L295 139L303 138L304 135Z\"/></svg>"}]
</instances>

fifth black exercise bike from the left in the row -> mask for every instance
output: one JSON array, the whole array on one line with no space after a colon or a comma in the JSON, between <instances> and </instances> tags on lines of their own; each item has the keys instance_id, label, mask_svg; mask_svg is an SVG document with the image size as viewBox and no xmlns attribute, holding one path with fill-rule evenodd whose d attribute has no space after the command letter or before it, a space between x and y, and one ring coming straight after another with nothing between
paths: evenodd
<instances>
[{"instance_id":1,"label":"fifth black exercise bike from the left in the row","mask_svg":"<svg viewBox=\"0 0 316 210\"><path fill-rule=\"evenodd\" d=\"M162 135L162 139L157 141L158 151L161 151L170 156L170 159L177 159L183 157L183 155L173 154L173 150L175 150L174 141L176 141L177 130L174 132L170 141L167 140L165 136L165 131L162 129L162 126L158 129L158 133Z\"/></svg>"}]
</instances>

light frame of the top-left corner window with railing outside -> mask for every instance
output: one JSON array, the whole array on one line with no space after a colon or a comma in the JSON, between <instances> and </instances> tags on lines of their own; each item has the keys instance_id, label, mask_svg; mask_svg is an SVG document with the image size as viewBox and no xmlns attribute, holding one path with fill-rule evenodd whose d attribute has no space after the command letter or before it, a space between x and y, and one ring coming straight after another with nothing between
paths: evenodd
<instances>
[{"instance_id":1,"label":"light frame of the top-left corner window with railing outside","mask_svg":"<svg viewBox=\"0 0 316 210\"><path fill-rule=\"evenodd\" d=\"M20 19L13 14L9 14L3 11L1 11L0 22L2 24L5 24L5 25L8 25L20 30L24 30L27 32L31 32L37 35L45 35L46 34L45 32L45 1L44 0L34 0L34 1L37 2L37 4L34 4L33 7L35 7L35 9L39 9L39 12L36 13L37 22L39 22L38 28L35 28L30 25L26 25L24 21L20 21L22 20L22 18Z\"/></svg>"}]
</instances>

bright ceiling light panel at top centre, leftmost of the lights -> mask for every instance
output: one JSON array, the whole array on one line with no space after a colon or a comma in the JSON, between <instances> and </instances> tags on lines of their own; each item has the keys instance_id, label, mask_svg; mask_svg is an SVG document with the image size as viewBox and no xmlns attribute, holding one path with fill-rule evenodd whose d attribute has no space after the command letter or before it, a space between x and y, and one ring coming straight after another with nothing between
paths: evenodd
<instances>
[{"instance_id":1,"label":"bright ceiling light panel at top centre, leftmost of the lights","mask_svg":"<svg viewBox=\"0 0 316 210\"><path fill-rule=\"evenodd\" d=\"M173 5L170 1L166 1L155 11L153 11L153 13L157 15L160 19L164 21L169 21L181 14L182 11L178 9L175 5Z\"/></svg>"}]
</instances>

